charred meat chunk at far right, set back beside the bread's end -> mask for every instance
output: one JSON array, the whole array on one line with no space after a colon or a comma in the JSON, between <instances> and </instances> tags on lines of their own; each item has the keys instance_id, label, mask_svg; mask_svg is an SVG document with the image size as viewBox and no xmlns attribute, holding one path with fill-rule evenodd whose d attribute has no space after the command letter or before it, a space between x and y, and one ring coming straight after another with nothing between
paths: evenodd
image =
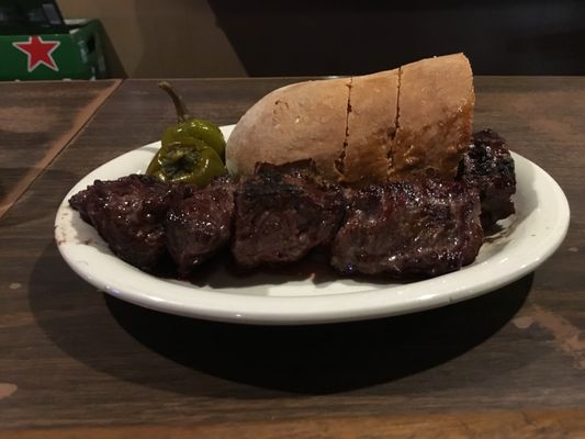
<instances>
[{"instance_id":1,"label":"charred meat chunk at far right, set back beside the bread's end","mask_svg":"<svg viewBox=\"0 0 585 439\"><path fill-rule=\"evenodd\" d=\"M484 130L473 135L473 144L463 156L458 177L479 189L485 230L515 212L510 199L516 192L514 159L497 133Z\"/></svg>"}]
</instances>

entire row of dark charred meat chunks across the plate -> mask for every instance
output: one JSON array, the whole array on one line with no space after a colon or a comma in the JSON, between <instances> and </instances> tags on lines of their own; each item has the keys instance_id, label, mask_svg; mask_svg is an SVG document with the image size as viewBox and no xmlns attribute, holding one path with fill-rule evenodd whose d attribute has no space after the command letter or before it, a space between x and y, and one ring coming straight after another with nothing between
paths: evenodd
<instances>
[{"instance_id":1,"label":"entire row of dark charred meat chunks across the plate","mask_svg":"<svg viewBox=\"0 0 585 439\"><path fill-rule=\"evenodd\" d=\"M513 213L515 187L504 139L483 131L454 180L342 188L301 160L261 164L250 177L203 189L137 175L97 180L69 203L115 255L145 271L167 252L187 274L226 247L252 268L294 262L323 246L346 274L432 277L475 259L480 211L484 227Z\"/></svg>"}]
</instances>

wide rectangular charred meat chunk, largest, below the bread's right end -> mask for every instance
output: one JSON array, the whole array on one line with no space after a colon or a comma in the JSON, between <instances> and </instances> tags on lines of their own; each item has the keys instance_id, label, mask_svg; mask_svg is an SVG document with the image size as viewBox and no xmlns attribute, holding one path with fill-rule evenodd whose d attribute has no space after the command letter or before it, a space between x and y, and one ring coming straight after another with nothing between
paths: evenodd
<instances>
[{"instance_id":1,"label":"wide rectangular charred meat chunk, largest, below the bread's right end","mask_svg":"<svg viewBox=\"0 0 585 439\"><path fill-rule=\"evenodd\" d=\"M482 246L474 188L440 180L353 192L331 264L346 274L434 277L471 263Z\"/></svg>"}]
</instances>

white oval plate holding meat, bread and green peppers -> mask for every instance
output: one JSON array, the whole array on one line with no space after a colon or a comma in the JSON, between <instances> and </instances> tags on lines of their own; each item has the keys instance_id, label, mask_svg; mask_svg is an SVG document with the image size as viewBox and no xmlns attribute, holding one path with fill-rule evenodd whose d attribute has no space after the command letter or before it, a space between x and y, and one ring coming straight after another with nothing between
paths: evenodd
<instances>
[{"instance_id":1,"label":"white oval plate holding meat, bread and green peppers","mask_svg":"<svg viewBox=\"0 0 585 439\"><path fill-rule=\"evenodd\" d=\"M232 126L222 127L227 137ZM517 213L475 262L460 271L410 283L338 279L308 272L258 272L234 277L218 267L198 285L156 278L116 258L93 227L68 204L95 179L144 172L159 143L102 165L81 179L57 211L55 238L67 263L102 291L148 308L190 317L246 324L314 324L412 313L477 296L535 270L562 243L569 203L541 168L513 154Z\"/></svg>"}]
</instances>

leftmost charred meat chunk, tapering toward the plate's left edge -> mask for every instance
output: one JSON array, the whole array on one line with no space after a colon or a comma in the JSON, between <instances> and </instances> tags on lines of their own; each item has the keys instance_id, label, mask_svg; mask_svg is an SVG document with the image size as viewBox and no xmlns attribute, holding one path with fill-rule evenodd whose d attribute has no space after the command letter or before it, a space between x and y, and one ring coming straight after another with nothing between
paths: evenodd
<instances>
[{"instance_id":1,"label":"leftmost charred meat chunk, tapering toward the plate's left edge","mask_svg":"<svg viewBox=\"0 0 585 439\"><path fill-rule=\"evenodd\" d=\"M150 271L166 255L162 224L167 211L190 191L187 185L131 175L112 181L95 180L71 196L69 204L95 227L116 256Z\"/></svg>"}]
</instances>

